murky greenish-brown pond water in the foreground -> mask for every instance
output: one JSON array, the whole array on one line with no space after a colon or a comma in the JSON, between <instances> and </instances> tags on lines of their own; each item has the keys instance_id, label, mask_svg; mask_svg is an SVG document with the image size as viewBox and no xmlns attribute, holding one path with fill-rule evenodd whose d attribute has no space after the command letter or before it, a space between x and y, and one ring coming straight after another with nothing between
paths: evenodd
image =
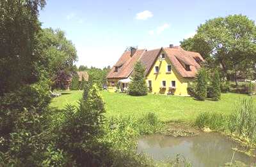
<instances>
[{"instance_id":1,"label":"murky greenish-brown pond water in the foreground","mask_svg":"<svg viewBox=\"0 0 256 167\"><path fill-rule=\"evenodd\" d=\"M219 133L201 133L193 137L173 137L153 134L138 140L138 152L152 156L154 160L174 158L176 154L186 157L193 166L222 166L230 163L232 148L241 149L237 143ZM246 164L256 163L255 157L235 152L234 160Z\"/></svg>"}]
</instances>

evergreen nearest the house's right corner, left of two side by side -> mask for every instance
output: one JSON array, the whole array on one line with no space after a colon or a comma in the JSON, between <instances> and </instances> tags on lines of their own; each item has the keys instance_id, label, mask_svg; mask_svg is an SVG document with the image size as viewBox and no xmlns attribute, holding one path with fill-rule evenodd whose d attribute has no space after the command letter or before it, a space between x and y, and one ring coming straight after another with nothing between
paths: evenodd
<instances>
[{"instance_id":1,"label":"evergreen nearest the house's right corner, left of two side by side","mask_svg":"<svg viewBox=\"0 0 256 167\"><path fill-rule=\"evenodd\" d=\"M196 76L196 99L204 101L207 97L207 72L204 68Z\"/></svg>"}]
</instances>

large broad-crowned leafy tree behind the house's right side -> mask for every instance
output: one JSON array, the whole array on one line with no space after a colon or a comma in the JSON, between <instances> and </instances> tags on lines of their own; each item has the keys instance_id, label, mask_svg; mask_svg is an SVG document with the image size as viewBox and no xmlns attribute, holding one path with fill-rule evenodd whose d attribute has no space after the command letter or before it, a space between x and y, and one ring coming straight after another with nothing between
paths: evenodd
<instances>
[{"instance_id":1,"label":"large broad-crowned leafy tree behind the house's right side","mask_svg":"<svg viewBox=\"0 0 256 167\"><path fill-rule=\"evenodd\" d=\"M181 42L187 50L199 52L210 68L220 66L228 80L237 71L252 76L255 68L256 27L244 15L229 15L207 20L198 27L193 38Z\"/></svg>"}]
</instances>

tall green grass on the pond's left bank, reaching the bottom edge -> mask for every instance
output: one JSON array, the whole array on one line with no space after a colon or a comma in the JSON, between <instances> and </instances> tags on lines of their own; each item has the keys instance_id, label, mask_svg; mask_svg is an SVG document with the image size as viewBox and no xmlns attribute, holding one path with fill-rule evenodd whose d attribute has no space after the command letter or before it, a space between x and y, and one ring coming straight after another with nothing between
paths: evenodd
<instances>
[{"instance_id":1,"label":"tall green grass on the pond's left bank, reaching the bottom edge","mask_svg":"<svg viewBox=\"0 0 256 167\"><path fill-rule=\"evenodd\" d=\"M141 117L119 115L106 120L104 137L99 140L113 150L113 166L155 166L145 154L136 153L136 138L161 131L163 127L154 113Z\"/></svg>"}]
</instances>

